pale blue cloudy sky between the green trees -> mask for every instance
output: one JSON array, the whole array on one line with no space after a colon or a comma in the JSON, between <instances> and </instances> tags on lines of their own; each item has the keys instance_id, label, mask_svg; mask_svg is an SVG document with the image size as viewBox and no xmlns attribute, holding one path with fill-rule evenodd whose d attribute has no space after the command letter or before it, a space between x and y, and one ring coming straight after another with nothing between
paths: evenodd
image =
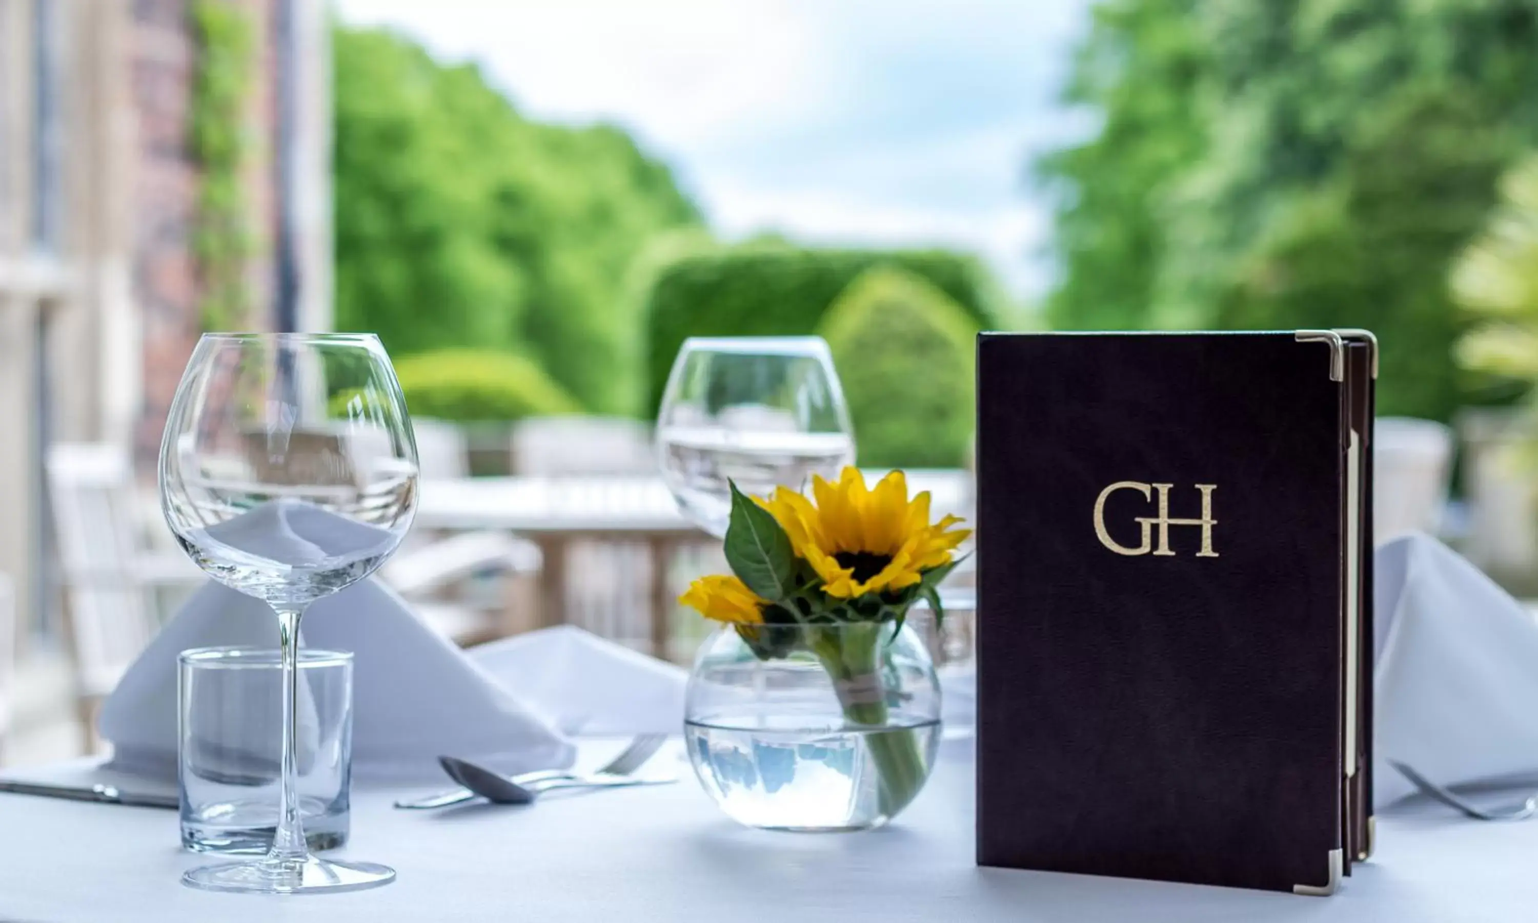
<instances>
[{"instance_id":1,"label":"pale blue cloudy sky between the green trees","mask_svg":"<svg viewBox=\"0 0 1538 923\"><path fill-rule=\"evenodd\" d=\"M1080 137L1057 103L1089 0L335 0L534 118L628 129L712 229L950 246L1040 296L1034 154Z\"/></svg>"}]
</instances>

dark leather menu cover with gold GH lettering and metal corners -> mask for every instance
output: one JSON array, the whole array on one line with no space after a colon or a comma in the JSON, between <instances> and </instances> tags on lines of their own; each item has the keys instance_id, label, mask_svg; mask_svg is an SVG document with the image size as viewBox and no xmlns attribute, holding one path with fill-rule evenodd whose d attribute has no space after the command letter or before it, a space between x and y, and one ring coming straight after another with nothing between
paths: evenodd
<instances>
[{"instance_id":1,"label":"dark leather menu cover with gold GH lettering and metal corners","mask_svg":"<svg viewBox=\"0 0 1538 923\"><path fill-rule=\"evenodd\" d=\"M980 336L978 863L1333 891L1346 352Z\"/></svg>"}]
</instances>

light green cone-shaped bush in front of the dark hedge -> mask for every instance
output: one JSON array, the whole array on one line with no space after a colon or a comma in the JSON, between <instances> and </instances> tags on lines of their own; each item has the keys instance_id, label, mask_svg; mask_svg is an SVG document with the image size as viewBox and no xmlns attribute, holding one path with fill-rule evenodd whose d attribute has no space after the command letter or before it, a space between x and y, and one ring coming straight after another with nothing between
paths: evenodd
<instances>
[{"instance_id":1,"label":"light green cone-shaped bush in front of the dark hedge","mask_svg":"<svg viewBox=\"0 0 1538 923\"><path fill-rule=\"evenodd\" d=\"M821 333L844 384L861 465L963 464L977 330L944 292L894 269L872 269L838 296Z\"/></svg>"}]
</instances>

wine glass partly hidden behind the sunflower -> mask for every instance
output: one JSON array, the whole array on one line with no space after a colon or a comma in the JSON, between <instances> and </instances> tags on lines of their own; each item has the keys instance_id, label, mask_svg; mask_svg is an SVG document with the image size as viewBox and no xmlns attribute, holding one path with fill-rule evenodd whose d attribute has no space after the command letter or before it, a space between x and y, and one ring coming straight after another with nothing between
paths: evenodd
<instances>
[{"instance_id":1,"label":"wine glass partly hidden behind the sunflower","mask_svg":"<svg viewBox=\"0 0 1538 923\"><path fill-rule=\"evenodd\" d=\"M837 478L855 459L849 407L821 336L684 341L657 413L657 455L680 508L720 538L727 481L749 495Z\"/></svg>"}]
</instances>

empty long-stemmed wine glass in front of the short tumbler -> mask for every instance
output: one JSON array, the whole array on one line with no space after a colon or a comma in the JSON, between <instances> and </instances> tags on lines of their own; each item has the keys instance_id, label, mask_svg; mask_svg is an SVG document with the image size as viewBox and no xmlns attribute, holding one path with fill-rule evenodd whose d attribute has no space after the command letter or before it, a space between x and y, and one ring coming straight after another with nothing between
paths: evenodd
<instances>
[{"instance_id":1,"label":"empty long-stemmed wine glass in front of the short tumbler","mask_svg":"<svg viewBox=\"0 0 1538 923\"><path fill-rule=\"evenodd\" d=\"M374 573L417 507L417 444L378 338L203 335L166 419L160 505L198 567L272 607L283 668L272 848L260 860L195 868L181 882L261 894L391 882L388 866L309 854L294 762L300 617Z\"/></svg>"}]
</instances>

